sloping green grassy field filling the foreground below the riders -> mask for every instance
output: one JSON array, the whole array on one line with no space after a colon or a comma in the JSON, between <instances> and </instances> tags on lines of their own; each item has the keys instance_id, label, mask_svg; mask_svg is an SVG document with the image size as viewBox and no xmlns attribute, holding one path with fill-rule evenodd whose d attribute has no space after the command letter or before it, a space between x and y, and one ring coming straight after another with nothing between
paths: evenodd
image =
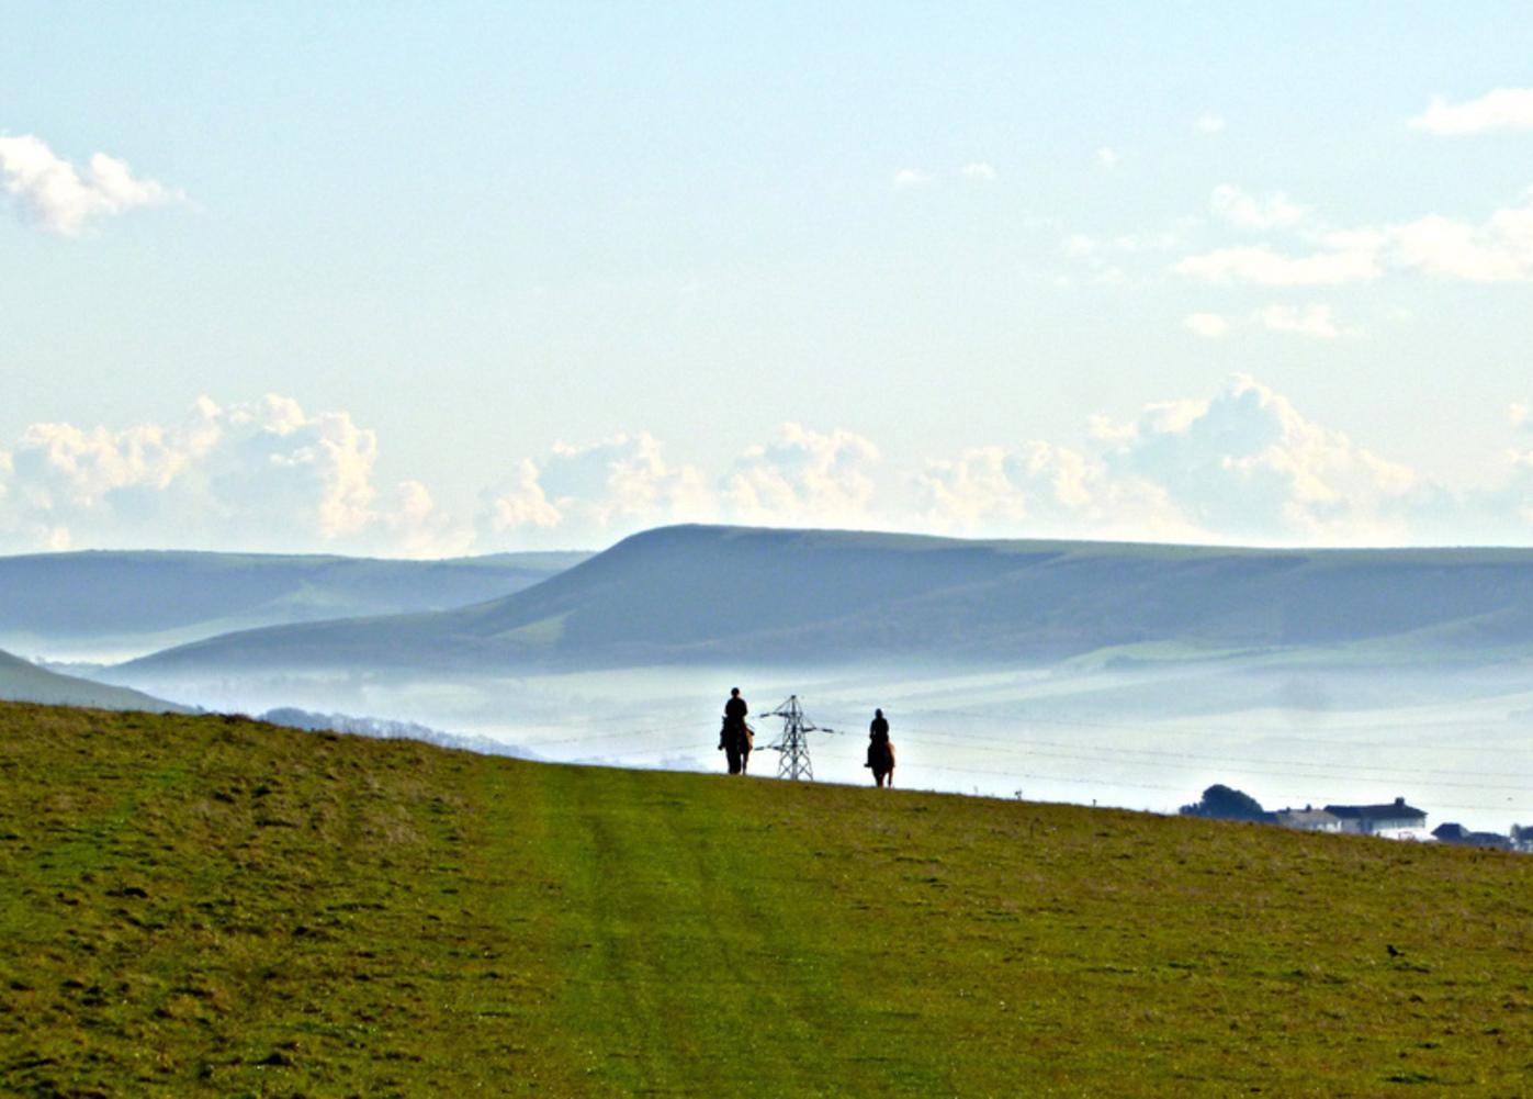
<instances>
[{"instance_id":1,"label":"sloping green grassy field filling the foreground below the riders","mask_svg":"<svg viewBox=\"0 0 1533 1099\"><path fill-rule=\"evenodd\" d=\"M5 1094L1515 1096L1530 932L1493 852L0 705Z\"/></svg>"}]
</instances>

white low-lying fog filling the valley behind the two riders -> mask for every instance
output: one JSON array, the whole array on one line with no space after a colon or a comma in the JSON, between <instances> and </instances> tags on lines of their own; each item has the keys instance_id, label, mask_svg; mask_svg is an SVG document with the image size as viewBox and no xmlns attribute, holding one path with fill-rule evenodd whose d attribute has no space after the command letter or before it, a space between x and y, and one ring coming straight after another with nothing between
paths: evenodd
<instances>
[{"instance_id":1,"label":"white low-lying fog filling the valley behind the two riders","mask_svg":"<svg viewBox=\"0 0 1533 1099\"><path fill-rule=\"evenodd\" d=\"M538 759L722 771L730 687L751 705L756 776L797 694L835 733L809 737L816 779L865 783L881 707L908 788L1159 812L1220 782L1268 809L1404 797L1427 828L1533 823L1533 687L1512 671L1171 670L751 671L650 668L506 679L399 676L143 681L161 697L259 714L300 707L483 736Z\"/></svg>"}]
</instances>

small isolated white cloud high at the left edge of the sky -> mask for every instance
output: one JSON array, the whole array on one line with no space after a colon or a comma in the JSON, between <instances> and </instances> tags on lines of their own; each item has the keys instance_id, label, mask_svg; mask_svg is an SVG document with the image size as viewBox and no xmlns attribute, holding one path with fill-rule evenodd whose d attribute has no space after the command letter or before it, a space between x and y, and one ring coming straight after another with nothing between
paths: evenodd
<instances>
[{"instance_id":1,"label":"small isolated white cloud high at the left edge of the sky","mask_svg":"<svg viewBox=\"0 0 1533 1099\"><path fill-rule=\"evenodd\" d=\"M31 222L61 236L98 218L184 201L181 192L133 176L126 161L95 153L81 173L40 138L0 136L0 190Z\"/></svg>"}]
</instances>

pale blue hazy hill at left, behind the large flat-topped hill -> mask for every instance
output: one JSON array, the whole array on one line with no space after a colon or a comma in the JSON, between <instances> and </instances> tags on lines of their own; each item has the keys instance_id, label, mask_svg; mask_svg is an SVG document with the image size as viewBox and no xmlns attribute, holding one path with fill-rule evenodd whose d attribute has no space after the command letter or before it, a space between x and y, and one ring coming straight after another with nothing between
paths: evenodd
<instances>
[{"instance_id":1,"label":"pale blue hazy hill at left, behind the large flat-topped hill","mask_svg":"<svg viewBox=\"0 0 1533 1099\"><path fill-rule=\"evenodd\" d=\"M0 558L0 645L138 654L231 630L461 607L530 587L589 553L385 561L107 552Z\"/></svg>"}]
</instances>

